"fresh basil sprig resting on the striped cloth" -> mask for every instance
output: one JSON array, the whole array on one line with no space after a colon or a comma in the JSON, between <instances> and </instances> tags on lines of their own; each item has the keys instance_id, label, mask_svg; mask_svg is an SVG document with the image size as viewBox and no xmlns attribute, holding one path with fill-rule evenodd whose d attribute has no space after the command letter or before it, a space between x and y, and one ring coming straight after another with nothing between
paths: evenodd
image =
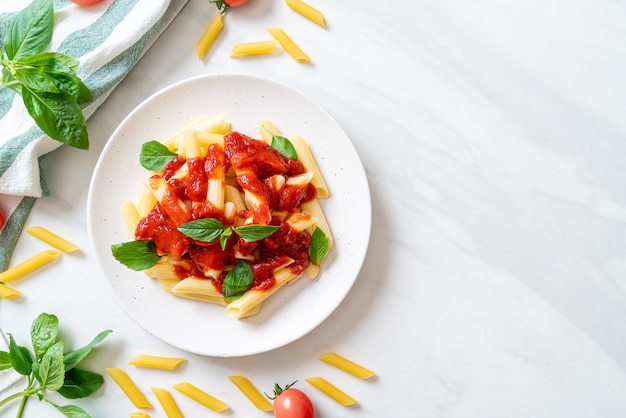
<instances>
[{"instance_id":1,"label":"fresh basil sprig resting on the striped cloth","mask_svg":"<svg viewBox=\"0 0 626 418\"><path fill-rule=\"evenodd\" d=\"M76 74L77 60L46 51L53 26L52 0L34 0L9 22L0 50L0 89L20 94L29 115L50 138L86 150L89 136L81 105L93 95Z\"/></svg>"}]
</instances>

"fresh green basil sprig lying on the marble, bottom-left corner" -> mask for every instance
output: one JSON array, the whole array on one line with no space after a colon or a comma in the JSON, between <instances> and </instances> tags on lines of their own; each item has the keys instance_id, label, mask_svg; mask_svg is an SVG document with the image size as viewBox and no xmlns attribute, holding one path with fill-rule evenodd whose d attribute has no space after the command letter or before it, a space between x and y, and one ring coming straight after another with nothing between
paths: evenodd
<instances>
[{"instance_id":1,"label":"fresh green basil sprig lying on the marble, bottom-left corner","mask_svg":"<svg viewBox=\"0 0 626 418\"><path fill-rule=\"evenodd\" d=\"M102 342L111 330L102 331L89 344L65 352L60 337L59 320L55 315L42 313L32 323L30 336L33 352L15 342L9 334L9 351L0 351L0 370L13 369L27 376L27 386L0 401L0 407L15 399L22 399L17 412L21 417L26 401L36 397L53 406L66 417L89 418L89 414L76 405L56 405L46 397L46 392L58 392L66 399L78 399L93 394L104 382L101 375L76 366Z\"/></svg>"}]
</instances>

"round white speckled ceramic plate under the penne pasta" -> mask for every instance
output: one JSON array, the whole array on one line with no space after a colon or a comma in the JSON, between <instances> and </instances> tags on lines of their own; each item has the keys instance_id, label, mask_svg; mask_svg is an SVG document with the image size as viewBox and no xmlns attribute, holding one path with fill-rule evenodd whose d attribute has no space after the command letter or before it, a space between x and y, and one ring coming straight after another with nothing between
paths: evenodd
<instances>
[{"instance_id":1,"label":"round white speckled ceramic plate under the penne pasta","mask_svg":"<svg viewBox=\"0 0 626 418\"><path fill-rule=\"evenodd\" d=\"M110 246L131 239L120 208L133 200L148 172L141 145L188 119L227 113L232 130L258 138L269 119L284 136L304 136L331 197L322 205L334 246L316 280L303 276L268 298L261 312L237 320L223 306L166 294L156 280L132 271ZM371 202L359 157L337 122L318 104L275 81L248 75L207 75L174 84L140 104L113 133L96 165L88 196L88 229L98 264L126 313L155 337L209 356L244 356L288 344L324 321L352 287L367 250Z\"/></svg>"}]
</instances>

